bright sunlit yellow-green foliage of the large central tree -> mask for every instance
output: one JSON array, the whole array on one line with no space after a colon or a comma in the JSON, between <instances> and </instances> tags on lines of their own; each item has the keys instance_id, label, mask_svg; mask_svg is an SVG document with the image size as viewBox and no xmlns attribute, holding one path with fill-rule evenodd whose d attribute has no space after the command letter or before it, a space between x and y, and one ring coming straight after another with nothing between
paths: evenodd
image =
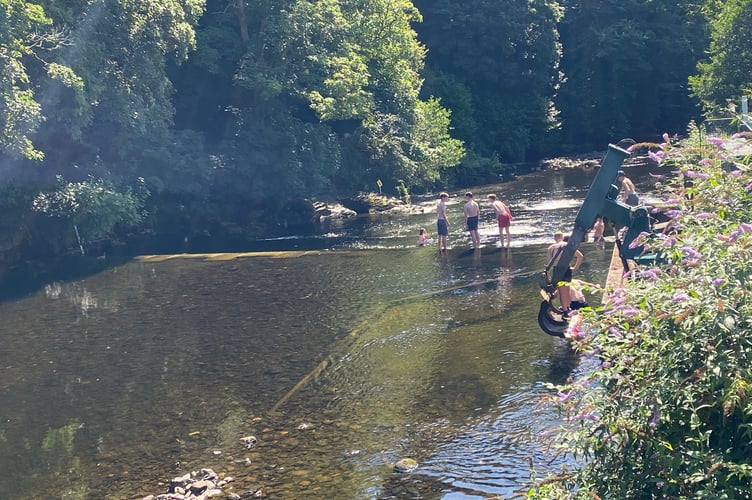
<instances>
[{"instance_id":1,"label":"bright sunlit yellow-green foliage of the large central tree","mask_svg":"<svg viewBox=\"0 0 752 500\"><path fill-rule=\"evenodd\" d=\"M361 123L361 143L377 160L365 175L430 185L462 150L439 101L419 97L425 48L410 23L420 20L408 0L298 1L283 46L303 56L291 81L321 120Z\"/></svg>"}]
</instances>

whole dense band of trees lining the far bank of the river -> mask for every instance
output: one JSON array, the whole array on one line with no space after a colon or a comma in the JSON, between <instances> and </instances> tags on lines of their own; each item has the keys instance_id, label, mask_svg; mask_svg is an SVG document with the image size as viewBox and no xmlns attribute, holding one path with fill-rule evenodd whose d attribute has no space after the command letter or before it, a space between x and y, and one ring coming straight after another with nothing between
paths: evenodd
<instances>
[{"instance_id":1,"label":"whole dense band of trees lining the far bank of the river","mask_svg":"<svg viewBox=\"0 0 752 500\"><path fill-rule=\"evenodd\" d=\"M316 199L653 141L752 88L748 0L0 0L0 16L6 259L300 230Z\"/></svg>"}]
</instances>

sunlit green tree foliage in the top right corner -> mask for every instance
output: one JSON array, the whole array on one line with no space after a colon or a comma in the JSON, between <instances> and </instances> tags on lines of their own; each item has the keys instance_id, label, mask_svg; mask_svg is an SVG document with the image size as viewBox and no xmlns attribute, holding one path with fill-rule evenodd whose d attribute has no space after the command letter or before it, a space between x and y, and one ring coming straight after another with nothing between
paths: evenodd
<instances>
[{"instance_id":1,"label":"sunlit green tree foliage in the top right corner","mask_svg":"<svg viewBox=\"0 0 752 500\"><path fill-rule=\"evenodd\" d=\"M702 101L707 114L725 108L727 99L752 88L752 3L730 0L711 6L709 58L697 65L698 74L689 79L693 95Z\"/></svg>"}]
</instances>

